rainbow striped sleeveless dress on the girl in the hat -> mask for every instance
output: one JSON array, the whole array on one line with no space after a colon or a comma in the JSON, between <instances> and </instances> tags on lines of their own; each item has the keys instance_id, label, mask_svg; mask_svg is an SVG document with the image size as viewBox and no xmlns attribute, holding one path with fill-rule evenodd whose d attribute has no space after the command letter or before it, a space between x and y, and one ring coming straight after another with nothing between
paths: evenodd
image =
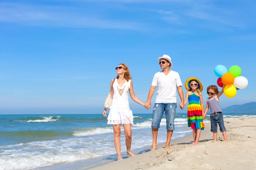
<instances>
[{"instance_id":1,"label":"rainbow striped sleeveless dress on the girl in the hat","mask_svg":"<svg viewBox=\"0 0 256 170\"><path fill-rule=\"evenodd\" d=\"M204 130L204 121L202 116L202 107L200 97L195 94L189 95L188 105L188 126L192 129Z\"/></svg>"}]
</instances>

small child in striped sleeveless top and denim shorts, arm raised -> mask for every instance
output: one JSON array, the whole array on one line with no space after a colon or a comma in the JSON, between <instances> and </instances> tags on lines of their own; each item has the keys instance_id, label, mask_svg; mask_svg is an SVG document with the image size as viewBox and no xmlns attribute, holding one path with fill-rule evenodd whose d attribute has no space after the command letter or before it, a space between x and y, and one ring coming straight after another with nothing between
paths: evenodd
<instances>
[{"instance_id":1,"label":"small child in striped sleeveless top and denim shorts, arm raised","mask_svg":"<svg viewBox=\"0 0 256 170\"><path fill-rule=\"evenodd\" d=\"M207 94L209 95L209 98L207 98L207 105L204 110L203 119L205 119L206 113L210 108L211 132L213 133L213 141L217 141L217 130L219 125L220 131L222 132L222 135L224 137L224 142L228 142L226 128L224 126L223 114L219 101L219 97L224 92L224 87L225 85L223 85L223 88L220 92L218 91L218 87L216 85L210 85L207 88Z\"/></svg>"}]
</instances>

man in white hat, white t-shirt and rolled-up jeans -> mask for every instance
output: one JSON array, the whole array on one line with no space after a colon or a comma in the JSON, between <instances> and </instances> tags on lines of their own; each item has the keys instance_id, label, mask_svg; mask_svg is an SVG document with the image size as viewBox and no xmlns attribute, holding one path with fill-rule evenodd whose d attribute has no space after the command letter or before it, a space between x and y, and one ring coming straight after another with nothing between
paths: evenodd
<instances>
[{"instance_id":1,"label":"man in white hat, white t-shirt and rolled-up jeans","mask_svg":"<svg viewBox=\"0 0 256 170\"><path fill-rule=\"evenodd\" d=\"M154 94L155 88L158 87L151 125L153 136L153 144L151 150L155 150L155 147L157 146L158 128L160 127L160 122L164 112L166 115L167 129L165 149L170 149L170 142L174 130L174 119L177 108L176 87L181 99L179 106L181 109L184 108L184 96L181 87L182 83L180 80L180 75L176 71L170 70L172 67L171 57L168 55L163 55L163 57L159 57L157 61L159 62L162 71L157 72L154 75L152 85L148 93L148 100L144 105L145 108L150 108L151 98Z\"/></svg>"}]
</instances>

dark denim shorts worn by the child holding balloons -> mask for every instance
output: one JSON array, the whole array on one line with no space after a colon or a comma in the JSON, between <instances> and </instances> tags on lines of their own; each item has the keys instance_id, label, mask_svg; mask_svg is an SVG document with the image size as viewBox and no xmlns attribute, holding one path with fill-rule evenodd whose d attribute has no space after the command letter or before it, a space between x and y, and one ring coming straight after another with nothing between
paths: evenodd
<instances>
[{"instance_id":1,"label":"dark denim shorts worn by the child holding balloons","mask_svg":"<svg viewBox=\"0 0 256 170\"><path fill-rule=\"evenodd\" d=\"M217 123L219 124L221 132L226 131L226 128L224 126L224 120L223 120L222 112L217 112L217 113L210 114L210 117L211 117L211 132L217 133L217 131L218 131Z\"/></svg>"}]
</instances>

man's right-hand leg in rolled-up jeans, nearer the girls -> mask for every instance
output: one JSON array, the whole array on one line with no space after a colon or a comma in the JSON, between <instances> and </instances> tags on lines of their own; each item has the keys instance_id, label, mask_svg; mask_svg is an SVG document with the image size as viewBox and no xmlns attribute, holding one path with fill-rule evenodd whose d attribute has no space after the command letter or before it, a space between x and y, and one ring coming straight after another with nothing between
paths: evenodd
<instances>
[{"instance_id":1,"label":"man's right-hand leg in rolled-up jeans, nearer the girls","mask_svg":"<svg viewBox=\"0 0 256 170\"><path fill-rule=\"evenodd\" d=\"M170 142L172 139L172 133L174 130L174 119L176 114L176 103L167 103L165 105L165 114L166 114L166 129L167 129L167 139L165 149L170 149Z\"/></svg>"}]
</instances>

